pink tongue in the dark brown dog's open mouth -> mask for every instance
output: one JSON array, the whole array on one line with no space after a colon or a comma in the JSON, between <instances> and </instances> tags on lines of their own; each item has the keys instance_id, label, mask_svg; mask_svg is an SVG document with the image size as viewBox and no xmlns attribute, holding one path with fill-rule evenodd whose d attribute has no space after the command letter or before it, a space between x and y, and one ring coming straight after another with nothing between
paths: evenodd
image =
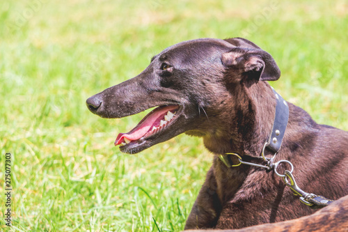
<instances>
[{"instance_id":1,"label":"pink tongue in the dark brown dog's open mouth","mask_svg":"<svg viewBox=\"0 0 348 232\"><path fill-rule=\"evenodd\" d=\"M145 121L136 125L136 127L134 127L130 132L118 134L115 141L115 146L122 143L123 138L127 138L131 141L140 139L152 128L152 125L157 121L157 118L164 116L168 111L173 109L177 109L177 106L172 105L160 109L155 109L150 114L148 114L148 116L145 116Z\"/></svg>"}]
</instances>

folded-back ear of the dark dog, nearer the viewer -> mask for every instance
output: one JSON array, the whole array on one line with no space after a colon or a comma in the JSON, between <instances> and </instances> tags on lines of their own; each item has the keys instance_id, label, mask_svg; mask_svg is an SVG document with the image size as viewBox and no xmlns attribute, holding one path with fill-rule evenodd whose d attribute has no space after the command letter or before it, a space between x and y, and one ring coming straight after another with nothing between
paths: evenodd
<instances>
[{"instance_id":1,"label":"folded-back ear of the dark dog, nearer the viewer","mask_svg":"<svg viewBox=\"0 0 348 232\"><path fill-rule=\"evenodd\" d=\"M228 68L239 70L240 74L260 81L276 81L280 77L276 61L262 49L235 47L222 55L221 62Z\"/></svg>"}]
</instances>

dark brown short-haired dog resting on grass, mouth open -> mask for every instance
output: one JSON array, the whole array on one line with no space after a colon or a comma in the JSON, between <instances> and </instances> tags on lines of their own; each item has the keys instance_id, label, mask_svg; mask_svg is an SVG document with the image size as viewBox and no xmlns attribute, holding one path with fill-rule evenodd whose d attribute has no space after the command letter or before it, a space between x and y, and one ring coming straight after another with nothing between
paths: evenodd
<instances>
[{"instance_id":1,"label":"dark brown short-haired dog resting on grass, mouth open","mask_svg":"<svg viewBox=\"0 0 348 232\"><path fill-rule=\"evenodd\" d=\"M157 107L133 130L118 135L115 144L125 153L139 153L182 132L203 137L216 156L185 229L239 229L315 212L274 171L247 165L228 168L217 156L237 153L244 161L264 164L260 153L276 110L267 81L279 77L271 55L248 40L190 40L164 49L140 75L86 103L104 118ZM294 164L296 182L306 192L329 199L345 196L348 132L318 125L303 109L288 106L289 121L276 160Z\"/></svg>"}]
</instances>

